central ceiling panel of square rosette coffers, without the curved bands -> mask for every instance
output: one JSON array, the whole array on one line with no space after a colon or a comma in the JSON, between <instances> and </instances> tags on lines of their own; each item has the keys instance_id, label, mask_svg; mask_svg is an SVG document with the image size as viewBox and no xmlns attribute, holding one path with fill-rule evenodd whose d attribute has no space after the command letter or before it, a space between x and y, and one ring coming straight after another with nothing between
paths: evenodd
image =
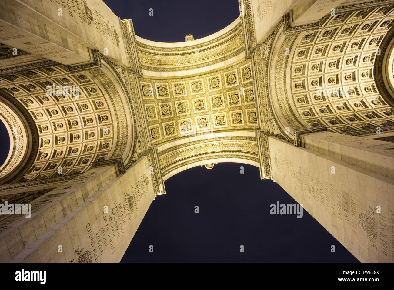
<instances>
[{"instance_id":1,"label":"central ceiling panel of square rosette coffers, without the curved bands","mask_svg":"<svg viewBox=\"0 0 394 290\"><path fill-rule=\"evenodd\" d=\"M182 79L142 78L140 84L153 144L258 127L249 60Z\"/></svg>"}]
</instances>

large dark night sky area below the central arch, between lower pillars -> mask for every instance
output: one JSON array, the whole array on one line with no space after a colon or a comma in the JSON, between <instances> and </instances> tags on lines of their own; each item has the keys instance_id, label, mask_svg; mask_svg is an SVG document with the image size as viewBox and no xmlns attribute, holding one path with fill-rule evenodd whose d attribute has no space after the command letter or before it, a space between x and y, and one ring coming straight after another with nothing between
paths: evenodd
<instances>
[{"instance_id":1,"label":"large dark night sky area below the central arch, between lower pillars","mask_svg":"<svg viewBox=\"0 0 394 290\"><path fill-rule=\"evenodd\" d=\"M260 180L252 165L190 168L165 188L121 262L358 262L307 211L302 218L271 215L270 204L296 201L272 180Z\"/></svg>"}]
</instances>

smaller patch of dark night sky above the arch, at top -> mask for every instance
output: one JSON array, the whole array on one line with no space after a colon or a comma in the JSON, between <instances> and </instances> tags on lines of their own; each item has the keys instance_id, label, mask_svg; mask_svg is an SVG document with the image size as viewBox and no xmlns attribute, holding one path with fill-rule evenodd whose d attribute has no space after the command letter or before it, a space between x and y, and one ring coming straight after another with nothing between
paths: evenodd
<instances>
[{"instance_id":1,"label":"smaller patch of dark night sky above the arch, at top","mask_svg":"<svg viewBox=\"0 0 394 290\"><path fill-rule=\"evenodd\" d=\"M120 19L132 19L136 35L160 42L202 38L225 28L240 14L238 0L104 0ZM153 16L149 16L153 9Z\"/></svg>"}]
</instances>

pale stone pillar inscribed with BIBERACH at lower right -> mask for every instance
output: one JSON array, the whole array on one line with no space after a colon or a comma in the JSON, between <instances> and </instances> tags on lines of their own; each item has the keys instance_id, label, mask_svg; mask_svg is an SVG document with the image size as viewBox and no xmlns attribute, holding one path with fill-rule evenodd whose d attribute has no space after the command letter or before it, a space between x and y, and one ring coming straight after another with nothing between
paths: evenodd
<instances>
[{"instance_id":1,"label":"pale stone pillar inscribed with BIBERACH at lower right","mask_svg":"<svg viewBox=\"0 0 394 290\"><path fill-rule=\"evenodd\" d=\"M300 147L267 138L274 181L361 262L394 262L392 144L328 131Z\"/></svg>"}]
</instances>

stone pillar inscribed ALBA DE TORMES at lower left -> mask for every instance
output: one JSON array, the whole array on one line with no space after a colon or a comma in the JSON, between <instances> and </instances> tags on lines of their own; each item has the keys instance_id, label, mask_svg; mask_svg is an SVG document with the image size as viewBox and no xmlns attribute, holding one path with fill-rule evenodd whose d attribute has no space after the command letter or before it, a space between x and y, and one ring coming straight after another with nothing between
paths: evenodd
<instances>
[{"instance_id":1,"label":"stone pillar inscribed ALBA DE TORMES at lower left","mask_svg":"<svg viewBox=\"0 0 394 290\"><path fill-rule=\"evenodd\" d=\"M157 194L149 167L143 156L124 174L92 168L40 196L45 206L0 232L0 262L120 262Z\"/></svg>"}]
</instances>

